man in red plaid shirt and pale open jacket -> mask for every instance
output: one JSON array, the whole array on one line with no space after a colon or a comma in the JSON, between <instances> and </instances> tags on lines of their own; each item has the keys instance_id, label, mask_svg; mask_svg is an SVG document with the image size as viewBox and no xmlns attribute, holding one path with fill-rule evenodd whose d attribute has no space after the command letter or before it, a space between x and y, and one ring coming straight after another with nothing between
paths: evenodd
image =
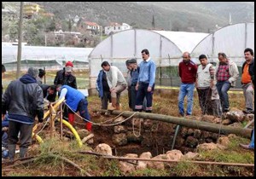
<instances>
[{"instance_id":1,"label":"man in red plaid shirt and pale open jacket","mask_svg":"<svg viewBox=\"0 0 256 179\"><path fill-rule=\"evenodd\" d=\"M218 53L218 64L216 66L217 90L220 97L223 113L230 111L228 90L236 86L236 79L239 76L236 63L230 61L224 53Z\"/></svg>"}]
</instances>

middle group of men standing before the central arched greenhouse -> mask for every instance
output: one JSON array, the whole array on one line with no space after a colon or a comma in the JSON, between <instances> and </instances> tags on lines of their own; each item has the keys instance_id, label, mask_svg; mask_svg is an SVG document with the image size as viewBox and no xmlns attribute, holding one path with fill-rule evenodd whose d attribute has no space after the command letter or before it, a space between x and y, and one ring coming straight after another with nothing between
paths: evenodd
<instances>
[{"instance_id":1,"label":"middle group of men standing before the central arched greenhouse","mask_svg":"<svg viewBox=\"0 0 256 179\"><path fill-rule=\"evenodd\" d=\"M121 92L128 89L129 107L132 111L152 112L156 66L148 49L143 49L141 53L143 61L139 66L136 59L125 61L128 69L126 79L118 67L110 65L108 61L102 62L102 70L96 79L102 109L120 110ZM109 107L108 101L111 104Z\"/></svg>"}]
</instances>

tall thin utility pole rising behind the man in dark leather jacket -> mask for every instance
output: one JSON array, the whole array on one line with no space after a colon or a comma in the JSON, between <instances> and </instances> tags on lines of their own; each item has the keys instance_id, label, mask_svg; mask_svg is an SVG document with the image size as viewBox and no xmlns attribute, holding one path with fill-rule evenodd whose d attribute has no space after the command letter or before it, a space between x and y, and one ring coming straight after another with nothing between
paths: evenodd
<instances>
[{"instance_id":1,"label":"tall thin utility pole rising behind the man in dark leather jacket","mask_svg":"<svg viewBox=\"0 0 256 179\"><path fill-rule=\"evenodd\" d=\"M19 21L19 42L18 42L18 55L17 55L17 72L16 78L20 78L20 61L21 61L21 43L22 43L22 19L23 19L23 3L20 2L20 21Z\"/></svg>"}]
</instances>

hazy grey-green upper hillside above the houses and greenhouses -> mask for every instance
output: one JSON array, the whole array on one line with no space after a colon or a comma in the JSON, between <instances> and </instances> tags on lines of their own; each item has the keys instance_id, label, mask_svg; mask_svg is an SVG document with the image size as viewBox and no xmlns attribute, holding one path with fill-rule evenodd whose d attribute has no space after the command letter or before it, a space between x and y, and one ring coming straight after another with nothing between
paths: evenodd
<instances>
[{"instance_id":1,"label":"hazy grey-green upper hillside above the houses and greenhouses","mask_svg":"<svg viewBox=\"0 0 256 179\"><path fill-rule=\"evenodd\" d=\"M174 31L208 32L232 22L254 19L254 3L228 2L36 2L61 19L79 15L102 26L108 22L126 22L137 28L151 28L154 14L156 28ZM188 8L189 7L189 8Z\"/></svg>"}]
</instances>

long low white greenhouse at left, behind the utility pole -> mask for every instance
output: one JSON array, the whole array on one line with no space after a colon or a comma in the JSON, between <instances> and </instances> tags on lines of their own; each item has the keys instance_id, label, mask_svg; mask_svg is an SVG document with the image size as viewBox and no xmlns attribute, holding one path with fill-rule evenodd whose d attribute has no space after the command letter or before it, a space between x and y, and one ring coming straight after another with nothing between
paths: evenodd
<instances>
[{"instance_id":1,"label":"long low white greenhouse at left, behind the utility pole","mask_svg":"<svg viewBox=\"0 0 256 179\"><path fill-rule=\"evenodd\" d=\"M93 48L22 46L21 70L29 66L58 70L66 61L73 61L74 68L88 68L88 55ZM2 45L2 63L8 71L17 69L17 45Z\"/></svg>"}]
</instances>

